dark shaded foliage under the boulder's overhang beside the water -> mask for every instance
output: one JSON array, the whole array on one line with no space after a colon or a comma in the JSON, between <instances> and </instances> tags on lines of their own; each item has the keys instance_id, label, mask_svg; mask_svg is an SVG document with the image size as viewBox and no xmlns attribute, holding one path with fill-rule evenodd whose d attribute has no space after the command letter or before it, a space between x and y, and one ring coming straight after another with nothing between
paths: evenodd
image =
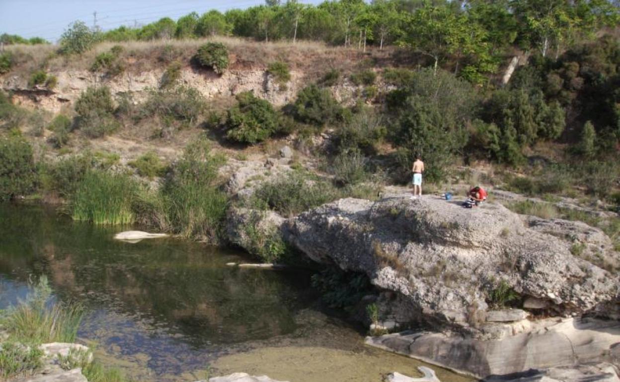
<instances>
[{"instance_id":1,"label":"dark shaded foliage under the boulder's overhang beside the water","mask_svg":"<svg viewBox=\"0 0 620 382\"><path fill-rule=\"evenodd\" d=\"M321 292L322 301L330 308L350 308L371 290L366 274L343 272L334 267L312 275L312 287Z\"/></svg>"}]
</instances>

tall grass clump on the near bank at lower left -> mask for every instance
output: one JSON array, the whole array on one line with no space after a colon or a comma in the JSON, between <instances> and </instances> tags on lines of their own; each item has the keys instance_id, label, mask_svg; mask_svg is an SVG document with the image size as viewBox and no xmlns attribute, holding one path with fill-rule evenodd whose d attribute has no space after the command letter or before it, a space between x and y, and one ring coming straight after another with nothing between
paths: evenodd
<instances>
[{"instance_id":1,"label":"tall grass clump on the near bank at lower left","mask_svg":"<svg viewBox=\"0 0 620 382\"><path fill-rule=\"evenodd\" d=\"M79 305L50 304L50 295L42 276L25 301L9 308L2 323L11 339L25 344L75 341L84 311Z\"/></svg>"}]
</instances>

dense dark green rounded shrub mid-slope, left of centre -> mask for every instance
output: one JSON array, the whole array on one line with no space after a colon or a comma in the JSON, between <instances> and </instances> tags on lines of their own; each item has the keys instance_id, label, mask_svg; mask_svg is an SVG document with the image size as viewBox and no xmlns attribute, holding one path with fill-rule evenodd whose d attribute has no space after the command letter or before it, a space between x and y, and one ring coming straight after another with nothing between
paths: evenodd
<instances>
[{"instance_id":1,"label":"dense dark green rounded shrub mid-slope, left of centre","mask_svg":"<svg viewBox=\"0 0 620 382\"><path fill-rule=\"evenodd\" d=\"M280 118L267 100L252 92L237 94L237 105L228 110L226 137L242 143L256 143L280 130Z\"/></svg>"}]
</instances>

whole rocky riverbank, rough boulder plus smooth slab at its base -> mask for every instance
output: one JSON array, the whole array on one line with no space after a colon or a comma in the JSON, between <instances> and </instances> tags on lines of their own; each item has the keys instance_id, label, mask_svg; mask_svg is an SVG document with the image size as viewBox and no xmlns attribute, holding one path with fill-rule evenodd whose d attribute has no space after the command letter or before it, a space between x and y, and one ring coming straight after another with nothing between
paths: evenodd
<instances>
[{"instance_id":1,"label":"whole rocky riverbank, rough boulder plus smooth slab at its base","mask_svg":"<svg viewBox=\"0 0 620 382\"><path fill-rule=\"evenodd\" d=\"M241 198L252 193L255 185L232 179ZM618 365L620 280L603 264L619 264L620 254L599 228L406 192L340 199L288 219L232 209L229 238L247 249L250 220L316 263L366 274L382 326L428 329L368 344L479 378Z\"/></svg>"}]
</instances>

